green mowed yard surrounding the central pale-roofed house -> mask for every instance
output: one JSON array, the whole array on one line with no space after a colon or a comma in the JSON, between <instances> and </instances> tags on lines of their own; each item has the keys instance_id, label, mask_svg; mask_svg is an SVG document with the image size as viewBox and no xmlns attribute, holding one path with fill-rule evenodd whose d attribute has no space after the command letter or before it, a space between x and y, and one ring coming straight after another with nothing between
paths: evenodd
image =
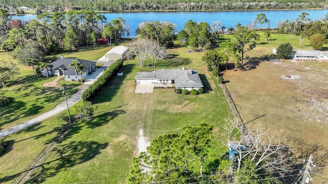
<instances>
[{"instance_id":1,"label":"green mowed yard surrounding the central pale-roofed house","mask_svg":"<svg viewBox=\"0 0 328 184\"><path fill-rule=\"evenodd\" d=\"M168 63L159 63L158 67L190 65L196 68L206 86L205 94L176 95L172 89L155 89L153 94L135 94L134 75L141 68L134 61L126 62L122 68L125 76L115 77L93 102L98 106L94 117L74 122L44 164L31 175L28 183L93 180L106 180L99 183L125 183L131 169L131 159L137 153L139 129L144 129L145 136L153 139L159 134L178 132L187 124L207 122L214 125L218 139L222 133L220 127L223 119L231 117L231 112L216 80L200 61L202 53L183 51L170 50L176 58ZM218 153L223 154L222 150ZM210 162L213 160L208 160L208 164Z\"/></svg>"}]
</instances>

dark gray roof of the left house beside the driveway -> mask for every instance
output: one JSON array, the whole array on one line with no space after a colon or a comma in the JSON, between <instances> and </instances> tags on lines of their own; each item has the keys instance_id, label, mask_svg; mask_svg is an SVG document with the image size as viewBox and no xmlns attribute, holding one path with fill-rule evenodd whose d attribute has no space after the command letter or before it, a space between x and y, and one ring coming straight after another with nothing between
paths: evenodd
<instances>
[{"instance_id":1,"label":"dark gray roof of the left house beside the driveway","mask_svg":"<svg viewBox=\"0 0 328 184\"><path fill-rule=\"evenodd\" d=\"M76 60L78 63L83 64L83 66L85 67L83 73L89 70L90 67L96 65L95 61L88 61L77 58L61 58L51 62L51 70L57 70L58 68L61 68L63 70L67 70L64 75L75 75L74 66L69 67L73 60ZM77 72L77 74L79 75L79 72Z\"/></svg>"}]
</instances>

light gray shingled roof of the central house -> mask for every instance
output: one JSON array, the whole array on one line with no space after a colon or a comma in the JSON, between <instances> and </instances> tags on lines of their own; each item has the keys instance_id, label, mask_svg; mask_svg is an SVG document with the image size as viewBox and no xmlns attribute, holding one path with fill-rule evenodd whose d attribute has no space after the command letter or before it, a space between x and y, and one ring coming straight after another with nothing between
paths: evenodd
<instances>
[{"instance_id":1,"label":"light gray shingled roof of the central house","mask_svg":"<svg viewBox=\"0 0 328 184\"><path fill-rule=\"evenodd\" d=\"M199 75L194 70L157 70L156 72L137 72L135 79L174 80L177 87L203 87Z\"/></svg>"}]
</instances>

